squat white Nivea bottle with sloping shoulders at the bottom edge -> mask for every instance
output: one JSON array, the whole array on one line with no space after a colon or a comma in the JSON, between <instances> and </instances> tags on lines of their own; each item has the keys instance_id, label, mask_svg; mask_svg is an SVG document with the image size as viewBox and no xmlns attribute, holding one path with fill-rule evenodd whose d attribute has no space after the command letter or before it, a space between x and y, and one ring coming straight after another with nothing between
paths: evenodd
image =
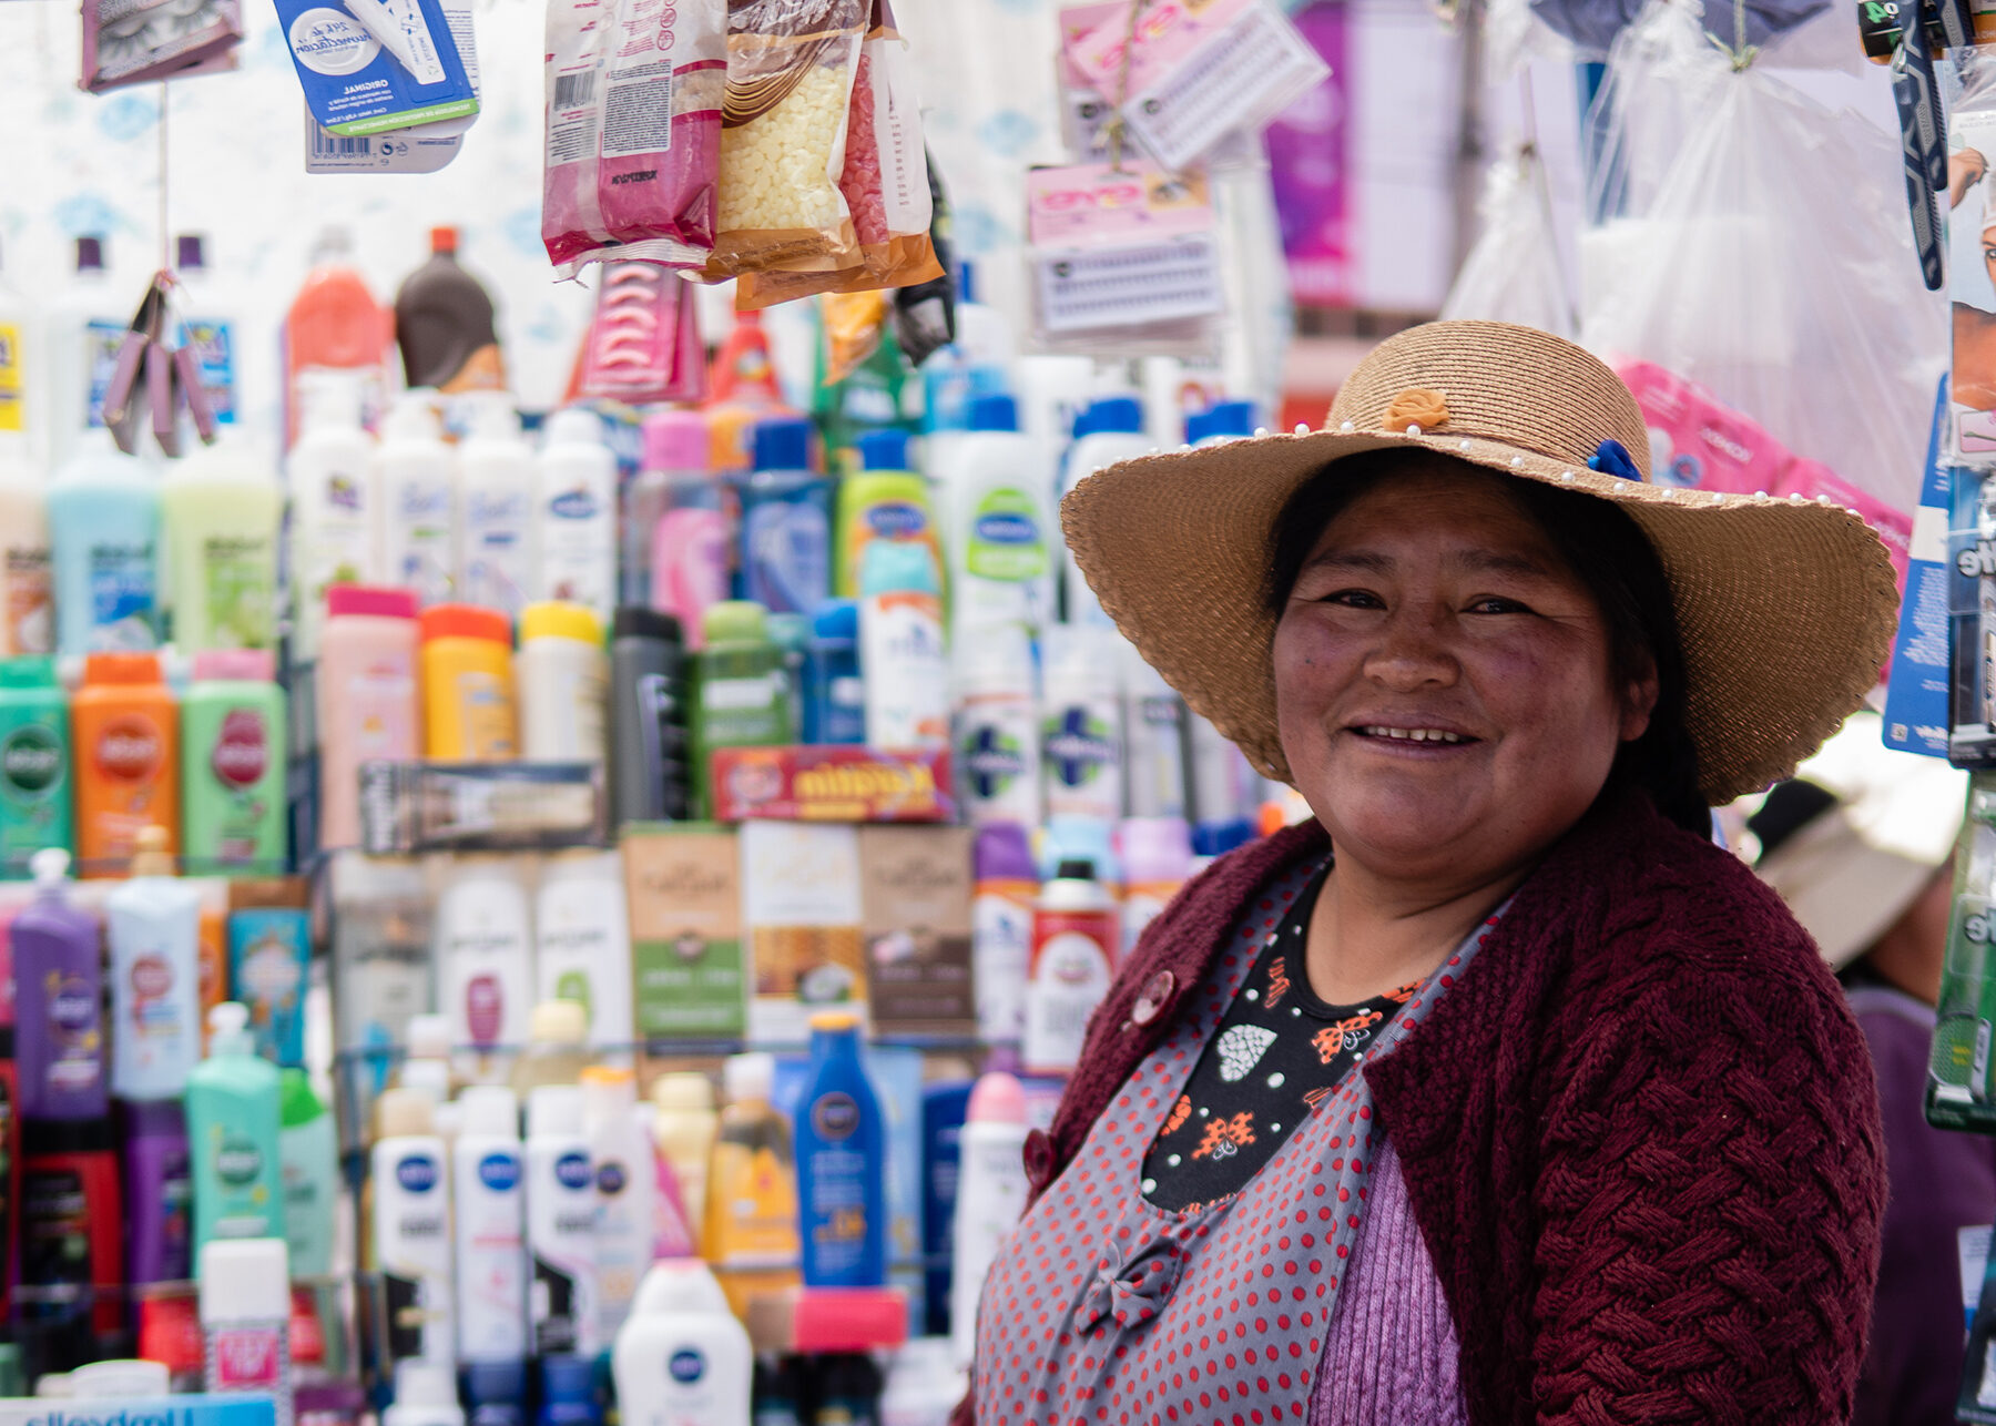
<instances>
[{"instance_id":1,"label":"squat white Nivea bottle with sloping shoulders at the bottom edge","mask_svg":"<svg viewBox=\"0 0 1996 1426\"><path fill-rule=\"evenodd\" d=\"M699 1258L655 1262L611 1356L625 1426L748 1426L754 1354Z\"/></svg>"}]
</instances>

